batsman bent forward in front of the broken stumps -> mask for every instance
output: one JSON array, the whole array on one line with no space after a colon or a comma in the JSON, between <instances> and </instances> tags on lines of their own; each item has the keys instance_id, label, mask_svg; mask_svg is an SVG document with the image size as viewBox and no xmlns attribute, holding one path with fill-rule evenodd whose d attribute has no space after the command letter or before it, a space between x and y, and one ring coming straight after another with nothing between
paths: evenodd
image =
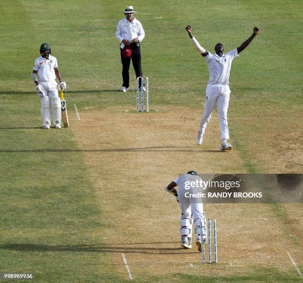
<instances>
[{"instance_id":1,"label":"batsman bent forward in front of the broken stumps","mask_svg":"<svg viewBox=\"0 0 303 283\"><path fill-rule=\"evenodd\" d=\"M178 186L178 191L175 187ZM164 190L177 197L181 214L181 246L192 247L193 217L195 223L196 244L202 250L206 241L206 220L203 212L201 193L204 185L202 178L195 171L189 171L171 182ZM203 242L202 242L203 241Z\"/></svg>"}]
</instances>

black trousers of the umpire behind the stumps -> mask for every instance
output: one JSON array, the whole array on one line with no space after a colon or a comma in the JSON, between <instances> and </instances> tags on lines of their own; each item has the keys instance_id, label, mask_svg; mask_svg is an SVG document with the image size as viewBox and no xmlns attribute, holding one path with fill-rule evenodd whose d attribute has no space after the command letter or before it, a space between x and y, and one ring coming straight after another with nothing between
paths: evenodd
<instances>
[{"instance_id":1,"label":"black trousers of the umpire behind the stumps","mask_svg":"<svg viewBox=\"0 0 303 283\"><path fill-rule=\"evenodd\" d=\"M132 55L129 58L125 58L122 56L121 52L121 62L122 62L122 77L123 77L123 85L122 87L129 87L129 65L130 60L132 59L133 66L135 69L136 77L142 77L142 69L141 69L141 49L140 46L137 46L136 43L131 43L131 47L133 48ZM139 80L139 87L141 87L141 80Z\"/></svg>"}]
</instances>

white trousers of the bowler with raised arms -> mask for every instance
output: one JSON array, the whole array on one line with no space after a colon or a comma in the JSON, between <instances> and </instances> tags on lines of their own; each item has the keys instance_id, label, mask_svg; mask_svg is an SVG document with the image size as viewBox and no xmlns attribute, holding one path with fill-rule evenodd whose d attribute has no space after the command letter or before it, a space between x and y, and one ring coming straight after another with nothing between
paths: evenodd
<instances>
[{"instance_id":1,"label":"white trousers of the bowler with raised arms","mask_svg":"<svg viewBox=\"0 0 303 283\"><path fill-rule=\"evenodd\" d=\"M207 85L204 111L200 121L200 133L202 134L202 136L204 135L205 128L211 117L211 113L217 103L221 140L229 139L227 124L229 95L230 89L228 85Z\"/></svg>"}]
</instances>

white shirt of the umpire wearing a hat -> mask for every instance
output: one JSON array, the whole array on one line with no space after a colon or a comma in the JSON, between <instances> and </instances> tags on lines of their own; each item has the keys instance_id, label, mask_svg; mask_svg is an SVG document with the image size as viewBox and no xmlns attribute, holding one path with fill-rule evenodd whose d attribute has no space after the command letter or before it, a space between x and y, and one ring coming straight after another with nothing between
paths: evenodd
<instances>
[{"instance_id":1,"label":"white shirt of the umpire wearing a hat","mask_svg":"<svg viewBox=\"0 0 303 283\"><path fill-rule=\"evenodd\" d=\"M138 38L139 42L145 37L145 32L142 24L135 18L129 22L126 18L123 18L118 22L116 30L116 38L122 43L122 40L126 39L132 41L134 38ZM124 47L124 43L121 44L121 48Z\"/></svg>"}]
</instances>

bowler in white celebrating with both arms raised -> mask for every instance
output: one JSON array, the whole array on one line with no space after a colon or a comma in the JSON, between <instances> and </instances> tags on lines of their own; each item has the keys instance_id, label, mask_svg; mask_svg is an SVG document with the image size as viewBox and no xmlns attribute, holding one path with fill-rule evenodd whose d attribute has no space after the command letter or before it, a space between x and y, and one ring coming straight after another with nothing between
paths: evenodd
<instances>
[{"instance_id":1,"label":"bowler in white celebrating with both arms raised","mask_svg":"<svg viewBox=\"0 0 303 283\"><path fill-rule=\"evenodd\" d=\"M239 53L243 51L246 47L250 45L254 37L259 33L257 27L253 28L252 36L246 40L240 47L235 48L232 51L223 53L224 48L221 43L217 43L214 47L215 54L206 51L199 42L194 38L192 34L191 26L186 27L190 38L196 49L205 58L209 71L209 81L206 88L206 98L204 105L204 112L200 121L200 129L197 137L197 144L200 145L203 142L203 136L205 128L210 120L211 113L218 104L218 116L219 116L219 126L221 132L222 146L220 150L231 150L232 145L228 143L229 131L227 124L227 109L229 103L229 73L231 68L231 63L233 59L239 56Z\"/></svg>"}]
</instances>

